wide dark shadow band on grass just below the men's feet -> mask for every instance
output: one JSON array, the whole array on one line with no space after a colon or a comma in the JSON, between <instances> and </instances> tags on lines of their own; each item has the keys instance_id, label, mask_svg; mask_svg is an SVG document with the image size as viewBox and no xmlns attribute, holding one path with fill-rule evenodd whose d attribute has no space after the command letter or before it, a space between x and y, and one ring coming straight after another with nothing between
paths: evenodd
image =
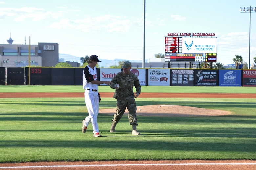
<instances>
[{"instance_id":1,"label":"wide dark shadow band on grass just below the men's feet","mask_svg":"<svg viewBox=\"0 0 256 170\"><path fill-rule=\"evenodd\" d=\"M114 138L114 137L113 137ZM136 136L129 138L138 138ZM255 144L255 140L246 140L245 143L231 143L230 141L219 140L218 142L214 141L102 141L101 140L86 140L85 141L65 141L65 140L4 140L1 141L0 147L38 147L38 148L111 148L111 149L127 149L130 148L138 150L181 150L181 151L228 151L228 152L249 152L255 153L256 147L252 147ZM115 138L116 139L116 138Z\"/></svg>"}]
</instances>

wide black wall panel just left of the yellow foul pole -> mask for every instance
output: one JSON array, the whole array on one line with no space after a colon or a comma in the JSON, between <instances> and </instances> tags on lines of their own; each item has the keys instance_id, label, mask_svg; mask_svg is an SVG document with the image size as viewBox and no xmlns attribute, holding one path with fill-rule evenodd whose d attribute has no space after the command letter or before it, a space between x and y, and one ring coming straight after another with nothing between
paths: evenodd
<instances>
[{"instance_id":1,"label":"wide black wall panel just left of the yellow foul pole","mask_svg":"<svg viewBox=\"0 0 256 170\"><path fill-rule=\"evenodd\" d=\"M24 85L24 68L7 68L7 85Z\"/></svg>"}]
</instances>

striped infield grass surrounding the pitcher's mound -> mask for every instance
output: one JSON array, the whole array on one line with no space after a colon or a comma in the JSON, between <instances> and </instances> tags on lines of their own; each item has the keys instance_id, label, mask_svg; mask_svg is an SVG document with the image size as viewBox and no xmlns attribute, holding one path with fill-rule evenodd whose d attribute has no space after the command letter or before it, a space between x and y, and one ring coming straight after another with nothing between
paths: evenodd
<instances>
[{"instance_id":1,"label":"striped infield grass surrounding the pitcher's mound","mask_svg":"<svg viewBox=\"0 0 256 170\"><path fill-rule=\"evenodd\" d=\"M171 104L221 109L213 117L138 116L140 136L131 135L127 116L110 133L111 115L99 114L102 138L92 126L84 98L0 98L0 163L88 160L256 160L255 99L137 98L137 105ZM104 98L100 108L114 108Z\"/></svg>"}]
</instances>

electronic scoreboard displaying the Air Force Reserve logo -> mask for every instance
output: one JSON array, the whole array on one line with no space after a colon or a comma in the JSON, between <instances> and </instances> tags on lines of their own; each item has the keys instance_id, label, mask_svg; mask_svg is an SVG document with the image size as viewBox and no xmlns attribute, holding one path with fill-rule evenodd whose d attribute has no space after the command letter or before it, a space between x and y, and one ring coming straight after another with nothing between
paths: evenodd
<instances>
[{"instance_id":1,"label":"electronic scoreboard displaying the Air Force Reserve logo","mask_svg":"<svg viewBox=\"0 0 256 170\"><path fill-rule=\"evenodd\" d=\"M216 62L216 60L216 37L165 37L165 62Z\"/></svg>"}]
</instances>

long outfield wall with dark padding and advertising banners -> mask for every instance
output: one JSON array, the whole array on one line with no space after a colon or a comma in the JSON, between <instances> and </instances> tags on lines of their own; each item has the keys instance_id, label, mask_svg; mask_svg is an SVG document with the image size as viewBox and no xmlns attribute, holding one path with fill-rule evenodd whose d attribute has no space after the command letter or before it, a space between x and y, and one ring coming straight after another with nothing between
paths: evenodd
<instances>
[{"instance_id":1,"label":"long outfield wall with dark padding and advertising banners","mask_svg":"<svg viewBox=\"0 0 256 170\"><path fill-rule=\"evenodd\" d=\"M121 68L97 68L97 79L111 81ZM256 86L256 70L132 68L142 86ZM83 68L0 67L0 85L82 85ZM105 85L105 84L102 84Z\"/></svg>"}]
</instances>

